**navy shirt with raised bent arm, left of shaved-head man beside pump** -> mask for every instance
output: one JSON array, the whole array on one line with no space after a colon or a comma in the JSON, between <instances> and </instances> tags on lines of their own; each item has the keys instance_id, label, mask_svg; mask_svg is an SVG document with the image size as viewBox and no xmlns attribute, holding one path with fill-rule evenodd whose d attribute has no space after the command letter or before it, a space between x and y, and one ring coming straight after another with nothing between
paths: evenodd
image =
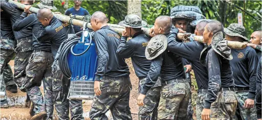
<instances>
[{"instance_id":1,"label":"navy shirt with raised bent arm, left of shaved-head man beside pump","mask_svg":"<svg viewBox=\"0 0 262 120\"><path fill-rule=\"evenodd\" d=\"M28 14L23 12L19 18L16 20L13 25L14 31L19 31L28 27L32 27L33 30L33 50L43 50L46 52L51 52L51 41L37 41L37 34L39 27L43 27L42 24L38 21L36 13Z\"/></svg>"}]
</instances>

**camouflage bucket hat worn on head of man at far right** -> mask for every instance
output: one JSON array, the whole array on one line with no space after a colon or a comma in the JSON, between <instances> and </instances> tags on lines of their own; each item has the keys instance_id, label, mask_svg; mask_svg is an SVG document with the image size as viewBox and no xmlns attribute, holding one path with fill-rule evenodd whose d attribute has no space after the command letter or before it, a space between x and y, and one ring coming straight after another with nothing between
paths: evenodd
<instances>
[{"instance_id":1,"label":"camouflage bucket hat worn on head of man at far right","mask_svg":"<svg viewBox=\"0 0 262 120\"><path fill-rule=\"evenodd\" d=\"M239 36L248 41L248 38L245 37L245 27L236 23L230 24L227 28L224 28L224 32L230 36Z\"/></svg>"}]
</instances>

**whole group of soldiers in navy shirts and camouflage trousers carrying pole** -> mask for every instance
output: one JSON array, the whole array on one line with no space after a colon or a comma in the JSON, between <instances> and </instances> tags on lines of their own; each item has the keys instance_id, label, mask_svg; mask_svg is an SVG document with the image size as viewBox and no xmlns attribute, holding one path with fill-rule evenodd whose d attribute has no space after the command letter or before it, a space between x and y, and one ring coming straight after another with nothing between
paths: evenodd
<instances>
[{"instance_id":1,"label":"whole group of soldiers in navy shirts and camouflage trousers carrying pole","mask_svg":"<svg viewBox=\"0 0 262 120\"><path fill-rule=\"evenodd\" d=\"M61 43L75 33L72 25L53 15L53 1L42 1L37 13L29 11L33 1L21 4L26 5L24 10L1 1L1 91L5 92L5 74L11 71L8 63L15 55L15 83L6 85L14 86L14 92L17 85L27 93L32 119L53 119L54 108L59 119L69 119L69 110L71 119L84 119L82 100L67 98L70 79L54 62ZM248 41L245 27L224 28L219 21L203 20L194 35L203 36L204 43L193 41L194 37L185 43L177 35L189 31L191 20L161 15L148 36L141 29L147 23L128 14L119 23L125 27L120 36L107 25L103 12L93 13L98 66L90 118L107 119L110 110L114 119L132 119L132 85L125 63L131 57L139 78L139 119L192 119L191 69L199 88L197 119L261 119L261 30L251 34L248 47L230 49L228 41ZM7 107L5 96L1 108Z\"/></svg>"}]
</instances>

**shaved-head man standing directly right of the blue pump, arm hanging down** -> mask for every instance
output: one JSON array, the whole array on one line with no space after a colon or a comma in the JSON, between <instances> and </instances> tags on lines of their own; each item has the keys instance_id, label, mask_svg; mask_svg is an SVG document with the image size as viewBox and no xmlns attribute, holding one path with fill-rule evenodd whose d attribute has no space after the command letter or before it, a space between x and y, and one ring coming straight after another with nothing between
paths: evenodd
<instances>
[{"instance_id":1,"label":"shaved-head man standing directly right of the blue pump, arm hanging down","mask_svg":"<svg viewBox=\"0 0 262 120\"><path fill-rule=\"evenodd\" d=\"M110 110L114 119L132 119L129 108L129 95L132 85L125 59L117 55L120 35L107 26L107 17L97 11L91 17L95 31L94 39L98 66L95 73L95 97L90 118L107 119Z\"/></svg>"}]
</instances>

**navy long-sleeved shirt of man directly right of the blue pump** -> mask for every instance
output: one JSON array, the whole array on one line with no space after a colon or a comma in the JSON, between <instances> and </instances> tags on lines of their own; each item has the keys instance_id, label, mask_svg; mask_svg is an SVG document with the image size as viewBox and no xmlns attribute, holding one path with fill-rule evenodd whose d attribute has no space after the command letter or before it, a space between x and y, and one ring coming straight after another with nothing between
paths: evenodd
<instances>
[{"instance_id":1,"label":"navy long-sleeved shirt of man directly right of the blue pump","mask_svg":"<svg viewBox=\"0 0 262 120\"><path fill-rule=\"evenodd\" d=\"M120 43L120 35L111 30L109 26L104 26L95 32L94 39L98 57L95 81L100 81L103 76L128 76L130 72L125 59L116 53Z\"/></svg>"}]
</instances>

